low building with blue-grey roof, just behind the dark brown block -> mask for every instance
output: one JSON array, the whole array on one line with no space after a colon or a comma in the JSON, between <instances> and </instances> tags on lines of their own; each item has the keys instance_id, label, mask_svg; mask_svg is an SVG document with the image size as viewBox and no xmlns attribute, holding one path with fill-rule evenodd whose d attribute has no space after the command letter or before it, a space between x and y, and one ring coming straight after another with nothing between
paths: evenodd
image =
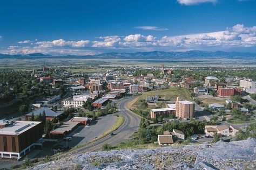
<instances>
[{"instance_id":1,"label":"low building with blue-grey roof, just behind the dark brown block","mask_svg":"<svg viewBox=\"0 0 256 170\"><path fill-rule=\"evenodd\" d=\"M40 115L40 114L43 115L44 111L45 111L45 119L49 120L49 121L52 121L53 118L60 117L60 115L63 114L63 111L53 111L50 108L38 108L38 109L31 111L29 114L26 114L25 116L26 116L26 118L31 119L32 114L34 116Z\"/></svg>"}]
</instances>

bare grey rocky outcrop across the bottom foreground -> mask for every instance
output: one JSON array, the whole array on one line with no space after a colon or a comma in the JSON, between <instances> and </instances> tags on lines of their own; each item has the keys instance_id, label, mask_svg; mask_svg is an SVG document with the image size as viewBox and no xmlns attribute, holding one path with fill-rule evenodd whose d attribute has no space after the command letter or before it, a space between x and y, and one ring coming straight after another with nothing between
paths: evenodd
<instances>
[{"instance_id":1,"label":"bare grey rocky outcrop across the bottom foreground","mask_svg":"<svg viewBox=\"0 0 256 170\"><path fill-rule=\"evenodd\" d=\"M256 139L70 155L31 169L255 169Z\"/></svg>"}]
</instances>

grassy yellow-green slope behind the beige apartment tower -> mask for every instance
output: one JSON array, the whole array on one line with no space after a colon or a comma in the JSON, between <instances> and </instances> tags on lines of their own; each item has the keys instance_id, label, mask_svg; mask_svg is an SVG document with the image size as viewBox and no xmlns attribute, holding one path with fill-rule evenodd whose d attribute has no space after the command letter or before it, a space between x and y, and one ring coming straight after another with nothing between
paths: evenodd
<instances>
[{"instance_id":1,"label":"grassy yellow-green slope behind the beige apartment tower","mask_svg":"<svg viewBox=\"0 0 256 170\"><path fill-rule=\"evenodd\" d=\"M184 100L192 101L192 97L190 96L190 92L186 88L173 87L169 89L163 90L154 90L148 91L141 96L139 96L136 101L132 101L131 109L135 109L141 107L142 102L145 101L147 96L155 96L158 95L160 100L176 100L176 97L181 97ZM129 105L129 106L130 106ZM156 108L154 105L148 105L147 109Z\"/></svg>"}]
</instances>

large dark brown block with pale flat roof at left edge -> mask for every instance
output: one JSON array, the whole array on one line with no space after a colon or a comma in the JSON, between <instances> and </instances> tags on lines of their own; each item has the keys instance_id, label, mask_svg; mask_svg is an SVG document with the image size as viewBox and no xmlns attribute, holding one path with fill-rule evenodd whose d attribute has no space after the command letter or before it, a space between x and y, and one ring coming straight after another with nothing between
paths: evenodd
<instances>
[{"instance_id":1,"label":"large dark brown block with pale flat roof at left edge","mask_svg":"<svg viewBox=\"0 0 256 170\"><path fill-rule=\"evenodd\" d=\"M1 121L0 158L20 159L42 138L42 122Z\"/></svg>"}]
</instances>

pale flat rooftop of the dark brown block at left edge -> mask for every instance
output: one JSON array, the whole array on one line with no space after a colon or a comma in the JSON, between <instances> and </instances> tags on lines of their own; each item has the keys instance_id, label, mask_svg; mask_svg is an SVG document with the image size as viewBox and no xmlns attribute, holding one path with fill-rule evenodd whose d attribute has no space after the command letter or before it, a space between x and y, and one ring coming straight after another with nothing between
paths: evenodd
<instances>
[{"instance_id":1,"label":"pale flat rooftop of the dark brown block at left edge","mask_svg":"<svg viewBox=\"0 0 256 170\"><path fill-rule=\"evenodd\" d=\"M36 126L39 123L41 122L15 121L5 128L0 129L0 134L18 135L31 129L33 126Z\"/></svg>"}]
</instances>

